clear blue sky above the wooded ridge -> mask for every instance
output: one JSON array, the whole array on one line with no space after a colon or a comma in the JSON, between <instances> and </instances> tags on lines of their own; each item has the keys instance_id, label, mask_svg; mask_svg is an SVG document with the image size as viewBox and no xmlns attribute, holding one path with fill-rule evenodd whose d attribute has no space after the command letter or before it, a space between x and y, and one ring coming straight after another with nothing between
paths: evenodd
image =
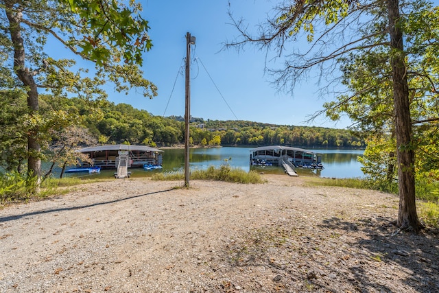
<instances>
[{"instance_id":1,"label":"clear blue sky above the wooded ridge","mask_svg":"<svg viewBox=\"0 0 439 293\"><path fill-rule=\"evenodd\" d=\"M191 62L192 117L331 128L350 125L349 121L335 123L326 117L305 124L308 115L321 110L322 104L332 98L319 97L316 82L302 82L294 93L278 92L271 82L272 76L264 73L265 52L251 46L239 52L223 49L224 43L238 35L230 25L229 9L235 18L248 21L252 29L265 19L276 1L230 0L230 6L227 0L146 0L141 3L143 17L150 22L154 44L144 55L143 71L145 78L158 86L158 96L147 99L135 91L128 96L108 93L111 102L131 104L153 115L183 116L185 36L189 32L196 38L196 44L191 46L192 58L195 58Z\"/></svg>"}]
</instances>

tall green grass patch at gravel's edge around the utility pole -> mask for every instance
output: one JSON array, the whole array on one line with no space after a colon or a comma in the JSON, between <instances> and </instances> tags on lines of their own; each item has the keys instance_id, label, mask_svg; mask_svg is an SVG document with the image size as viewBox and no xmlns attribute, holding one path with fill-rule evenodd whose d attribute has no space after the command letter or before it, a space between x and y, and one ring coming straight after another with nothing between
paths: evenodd
<instances>
[{"instance_id":1,"label":"tall green grass patch at gravel's edge around the utility pole","mask_svg":"<svg viewBox=\"0 0 439 293\"><path fill-rule=\"evenodd\" d=\"M191 172L190 179L193 180L217 180L233 183L265 183L259 174L254 171L245 172L240 168L233 168L230 165L221 165L219 167L210 166L205 170L195 170ZM183 172L157 173L152 176L152 180L184 180Z\"/></svg>"}]
</instances>

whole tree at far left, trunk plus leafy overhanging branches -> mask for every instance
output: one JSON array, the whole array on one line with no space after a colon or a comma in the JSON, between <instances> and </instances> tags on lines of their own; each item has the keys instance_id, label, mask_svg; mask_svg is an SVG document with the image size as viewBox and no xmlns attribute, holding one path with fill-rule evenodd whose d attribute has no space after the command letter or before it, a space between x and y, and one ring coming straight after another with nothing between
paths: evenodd
<instances>
[{"instance_id":1,"label":"whole tree at far left, trunk plus leafy overhanging branches","mask_svg":"<svg viewBox=\"0 0 439 293\"><path fill-rule=\"evenodd\" d=\"M28 174L41 176L41 143L38 89L54 95L74 94L84 99L104 99L99 86L113 82L117 91L139 87L147 97L156 86L142 78L141 54L152 47L148 23L139 16L134 1L101 0L2 0L0 1L1 86L23 89L27 94ZM73 60L55 60L47 53L47 41L58 42L74 56L95 64L71 71ZM12 78L16 76L15 78ZM38 190L34 191L38 191Z\"/></svg>"}]
</instances>

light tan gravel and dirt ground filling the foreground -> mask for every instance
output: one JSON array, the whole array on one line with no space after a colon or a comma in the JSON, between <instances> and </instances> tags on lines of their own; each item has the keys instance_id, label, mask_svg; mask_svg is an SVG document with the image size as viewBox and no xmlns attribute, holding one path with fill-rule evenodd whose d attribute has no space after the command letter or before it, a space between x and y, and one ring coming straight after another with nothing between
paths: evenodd
<instances>
[{"instance_id":1,"label":"light tan gravel and dirt ground filling the foreground","mask_svg":"<svg viewBox=\"0 0 439 293\"><path fill-rule=\"evenodd\" d=\"M439 239L398 198L264 175L115 179L0 210L1 292L439 292Z\"/></svg>"}]
</instances>

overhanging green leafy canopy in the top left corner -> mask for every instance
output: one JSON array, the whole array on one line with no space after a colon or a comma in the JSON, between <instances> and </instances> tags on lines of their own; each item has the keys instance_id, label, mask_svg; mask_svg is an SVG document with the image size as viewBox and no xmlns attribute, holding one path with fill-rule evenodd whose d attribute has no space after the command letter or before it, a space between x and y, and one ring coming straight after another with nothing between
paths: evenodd
<instances>
[{"instance_id":1,"label":"overhanging green leafy canopy in the top left corner","mask_svg":"<svg viewBox=\"0 0 439 293\"><path fill-rule=\"evenodd\" d=\"M141 5L135 1L19 1L16 5L3 5L16 17L23 38L27 67L36 69L35 82L54 95L73 93L84 99L104 99L102 86L115 84L116 91L128 92L139 88L146 97L154 97L157 89L143 78L140 70L142 54L149 51L152 41L148 36L148 23L141 18ZM0 14L3 27L10 27L5 14ZM22 86L14 76L13 44L9 33L0 35L2 55L0 80L7 88ZM53 38L54 37L54 38ZM65 55L73 53L86 61L84 69L72 69L75 60L49 57L45 53L48 39L59 42ZM24 60L23 60L24 61ZM93 70L89 72L89 69ZM8 81L8 82L6 82Z\"/></svg>"}]
</instances>

